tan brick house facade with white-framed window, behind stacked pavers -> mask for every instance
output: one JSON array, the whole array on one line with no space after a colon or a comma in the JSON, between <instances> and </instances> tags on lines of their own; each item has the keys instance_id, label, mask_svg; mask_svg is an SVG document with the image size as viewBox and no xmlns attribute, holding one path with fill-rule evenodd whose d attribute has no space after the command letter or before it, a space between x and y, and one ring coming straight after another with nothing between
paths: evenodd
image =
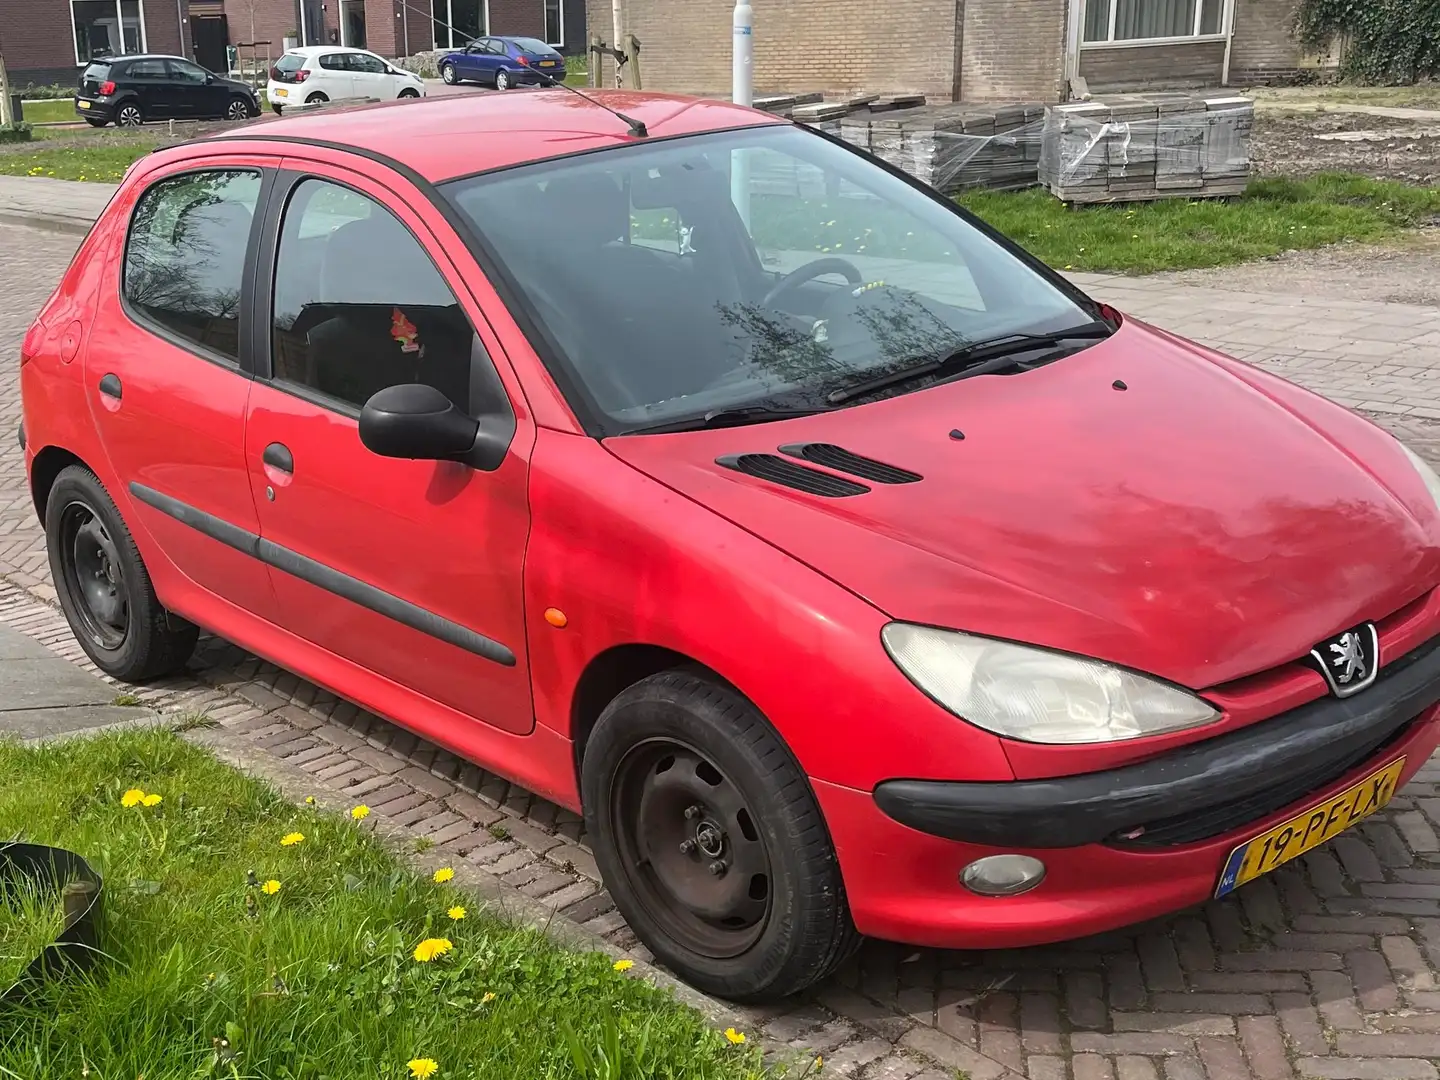
<instances>
[{"instance_id":1,"label":"tan brick house facade with white-framed window, behind stacked pavers","mask_svg":"<svg viewBox=\"0 0 1440 1080\"><path fill-rule=\"evenodd\" d=\"M1296 0L750 0L755 89L922 92L932 101L1061 101L1224 86L1310 63ZM611 0L588 22L613 36ZM730 89L733 0L621 0L647 89Z\"/></svg>"}]
</instances>

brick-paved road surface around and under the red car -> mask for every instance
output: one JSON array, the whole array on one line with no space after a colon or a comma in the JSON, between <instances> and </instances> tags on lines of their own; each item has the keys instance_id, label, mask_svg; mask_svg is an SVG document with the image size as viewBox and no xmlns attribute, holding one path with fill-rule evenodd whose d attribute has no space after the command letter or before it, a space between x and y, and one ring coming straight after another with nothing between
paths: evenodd
<instances>
[{"instance_id":1,"label":"brick-paved road surface around and under the red car","mask_svg":"<svg viewBox=\"0 0 1440 1080\"><path fill-rule=\"evenodd\" d=\"M75 240L0 225L0 356ZM1099 297L1359 406L1440 459L1440 311L1086 279ZM1302 347L1293 343L1300 341ZM12 361L13 363L13 361ZM63 655L0 376L0 622ZM206 713L621 945L575 815L223 642L154 707ZM1051 949L867 945L752 1031L863 1080L1440 1080L1440 765L1390 811L1221 903ZM638 950L641 955L642 950Z\"/></svg>"}]
</instances>

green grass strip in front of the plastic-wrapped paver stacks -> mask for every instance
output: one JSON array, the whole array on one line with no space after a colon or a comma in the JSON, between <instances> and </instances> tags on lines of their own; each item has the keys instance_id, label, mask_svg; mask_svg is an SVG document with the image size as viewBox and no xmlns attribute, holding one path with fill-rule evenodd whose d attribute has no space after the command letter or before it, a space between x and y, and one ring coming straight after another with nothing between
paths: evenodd
<instances>
[{"instance_id":1,"label":"green grass strip in front of the plastic-wrapped paver stacks","mask_svg":"<svg viewBox=\"0 0 1440 1080\"><path fill-rule=\"evenodd\" d=\"M959 202L1051 266L1125 274L1381 242L1440 215L1440 190L1339 174L1256 180L1231 202L1171 199L1067 210L1040 189L982 192Z\"/></svg>"}]
</instances>

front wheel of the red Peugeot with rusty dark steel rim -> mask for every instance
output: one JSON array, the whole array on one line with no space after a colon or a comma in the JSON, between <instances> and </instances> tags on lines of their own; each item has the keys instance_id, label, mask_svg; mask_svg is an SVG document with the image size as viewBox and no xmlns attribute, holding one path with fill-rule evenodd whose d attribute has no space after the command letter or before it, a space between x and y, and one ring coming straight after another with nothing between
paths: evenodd
<instances>
[{"instance_id":1,"label":"front wheel of the red Peugeot with rusty dark steel rim","mask_svg":"<svg viewBox=\"0 0 1440 1080\"><path fill-rule=\"evenodd\" d=\"M621 693L590 733L582 792L615 906L691 985L775 1001L858 945L809 783L733 688L677 670Z\"/></svg>"}]
</instances>

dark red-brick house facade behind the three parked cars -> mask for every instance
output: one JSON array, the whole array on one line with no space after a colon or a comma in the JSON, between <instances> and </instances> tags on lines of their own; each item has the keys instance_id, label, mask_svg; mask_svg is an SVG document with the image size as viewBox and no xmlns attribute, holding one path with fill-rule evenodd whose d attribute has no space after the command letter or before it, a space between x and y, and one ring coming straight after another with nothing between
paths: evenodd
<instances>
[{"instance_id":1,"label":"dark red-brick house facade behind the three parked cars","mask_svg":"<svg viewBox=\"0 0 1440 1080\"><path fill-rule=\"evenodd\" d=\"M225 72L297 45L409 56L484 33L585 50L585 0L0 0L10 81L72 85L95 56L158 52ZM253 45L253 49L251 48Z\"/></svg>"}]
</instances>

